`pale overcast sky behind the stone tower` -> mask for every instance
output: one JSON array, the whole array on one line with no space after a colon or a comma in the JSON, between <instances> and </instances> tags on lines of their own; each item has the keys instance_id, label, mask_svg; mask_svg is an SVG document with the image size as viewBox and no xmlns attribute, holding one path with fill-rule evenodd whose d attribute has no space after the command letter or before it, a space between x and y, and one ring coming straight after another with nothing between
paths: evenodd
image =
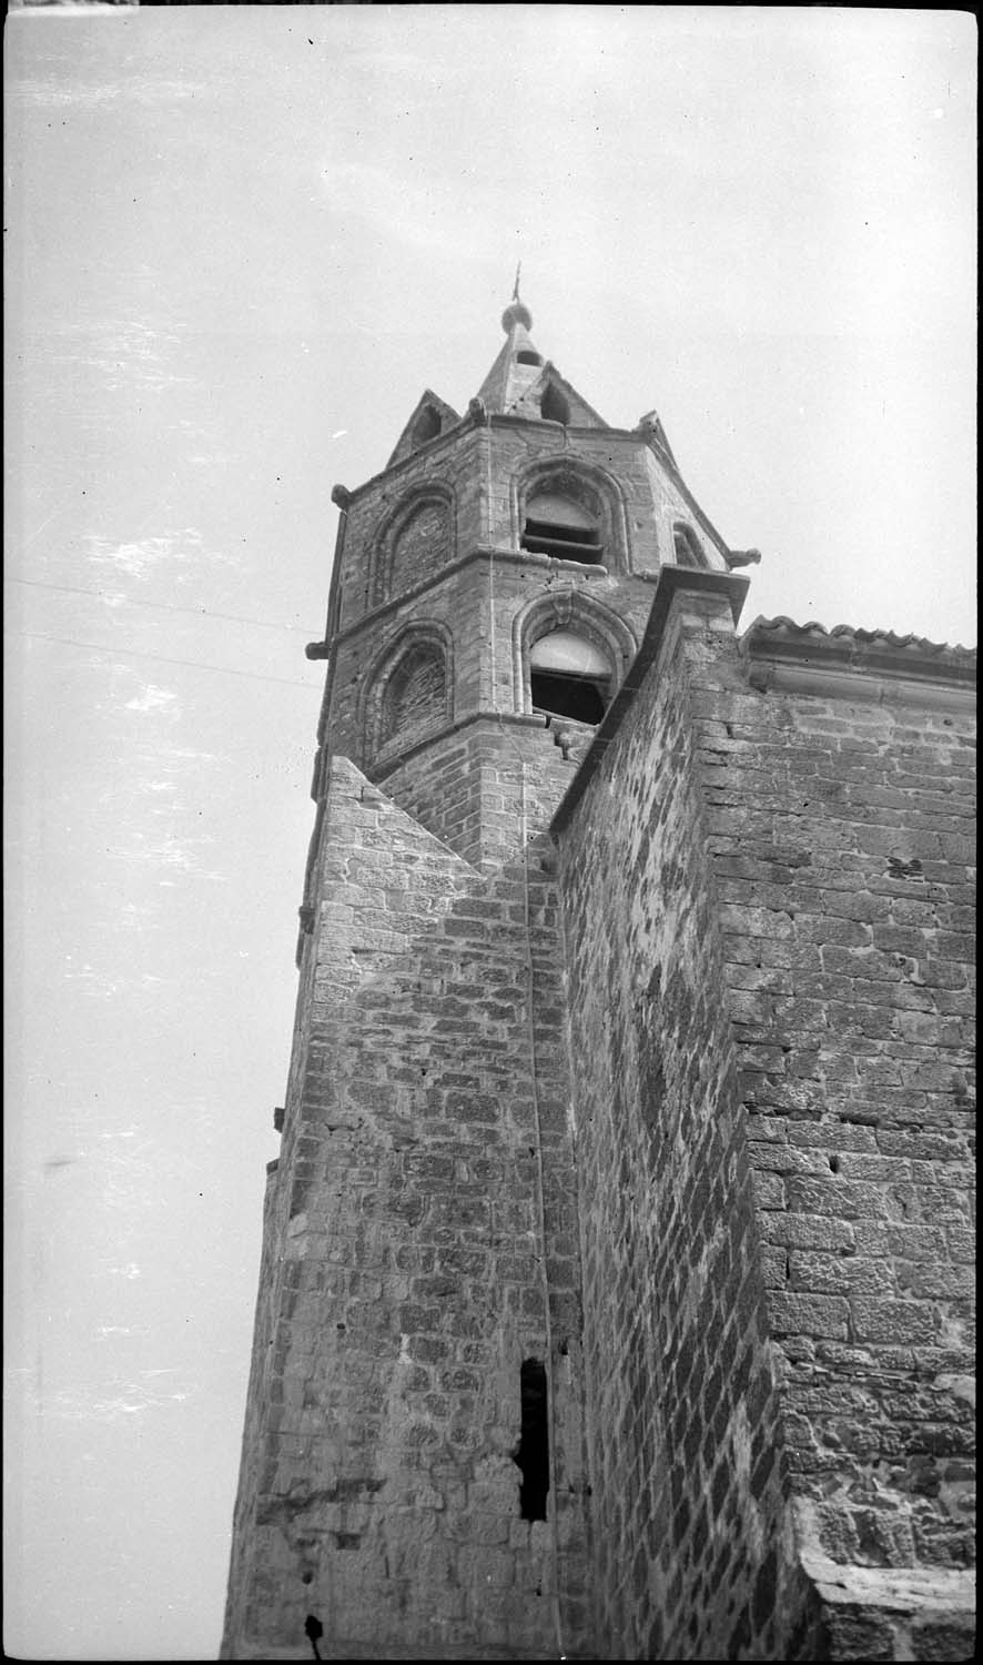
<instances>
[{"instance_id":1,"label":"pale overcast sky behind the stone tower","mask_svg":"<svg viewBox=\"0 0 983 1665\"><path fill-rule=\"evenodd\" d=\"M539 350L758 613L975 641L975 23L7 27L7 1648L221 1630L336 511Z\"/></svg>"}]
</instances>

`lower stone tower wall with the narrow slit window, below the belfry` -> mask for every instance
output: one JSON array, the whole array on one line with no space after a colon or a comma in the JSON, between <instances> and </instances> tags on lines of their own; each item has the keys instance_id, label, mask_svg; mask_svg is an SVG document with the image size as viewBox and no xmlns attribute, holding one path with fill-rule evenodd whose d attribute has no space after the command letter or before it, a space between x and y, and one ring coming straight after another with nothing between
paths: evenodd
<instances>
[{"instance_id":1,"label":"lower stone tower wall with the narrow slit window, below the belfry","mask_svg":"<svg viewBox=\"0 0 983 1665\"><path fill-rule=\"evenodd\" d=\"M557 902L526 824L482 876L333 759L226 1658L309 1658L308 1615L324 1658L594 1657ZM514 1462L527 1359L547 1520Z\"/></svg>"}]
</instances>

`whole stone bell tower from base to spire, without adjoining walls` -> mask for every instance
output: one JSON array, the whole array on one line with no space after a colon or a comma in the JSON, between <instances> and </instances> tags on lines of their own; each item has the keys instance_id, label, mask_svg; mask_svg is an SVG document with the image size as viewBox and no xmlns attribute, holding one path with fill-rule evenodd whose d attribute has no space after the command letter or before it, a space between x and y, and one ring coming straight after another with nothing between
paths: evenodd
<instances>
[{"instance_id":1,"label":"whole stone bell tower from base to spire, without adjoining walls","mask_svg":"<svg viewBox=\"0 0 983 1665\"><path fill-rule=\"evenodd\" d=\"M517 293L341 509L289 1082L223 1657L597 1657L549 818L659 574L757 558L659 418L610 428Z\"/></svg>"}]
</instances>

